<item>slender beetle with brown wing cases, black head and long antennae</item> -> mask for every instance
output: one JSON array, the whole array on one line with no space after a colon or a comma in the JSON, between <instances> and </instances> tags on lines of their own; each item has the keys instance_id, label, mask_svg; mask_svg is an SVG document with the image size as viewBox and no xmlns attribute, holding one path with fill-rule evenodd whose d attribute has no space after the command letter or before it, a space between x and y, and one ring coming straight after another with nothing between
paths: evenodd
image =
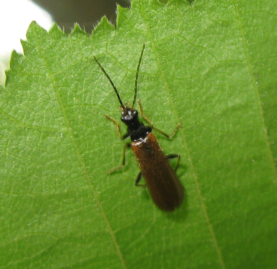
<instances>
[{"instance_id":1,"label":"slender beetle with brown wing cases, black head and long antennae","mask_svg":"<svg viewBox=\"0 0 277 269\"><path fill-rule=\"evenodd\" d=\"M143 44L139 63L137 65L137 72L136 72L136 79L135 79L135 95L134 95L132 106L124 105L122 103L119 93L114 83L112 82L110 76L107 74L107 72L99 63L99 61L96 59L96 57L93 56L94 60L97 62L97 64L104 72L104 74L106 75L106 77L108 78L108 80L112 84L112 87L115 90L115 93L117 95L117 98L120 102L121 109L122 109L121 121L127 125L127 133L122 136L120 133L118 122L107 115L105 115L105 117L106 119L109 119L116 125L117 132L120 139L125 139L128 136L130 136L132 140L131 143L127 143L124 146L122 165L110 170L109 173L125 165L125 150L126 150L126 147L131 147L141 170L137 176L135 185L145 186L145 185L139 184L139 181L143 176L145 178L146 186L150 192L152 200L154 201L156 206L164 211L174 211L182 204L183 198L184 198L184 187L180 183L175 172L180 163L180 155L179 154L164 155L157 141L157 138L155 137L155 135L153 135L151 131L152 129L155 129L158 132L165 135L166 137L171 138L175 134L177 129L181 127L181 124L179 123L176 126L176 128L174 129L171 135L167 135L161 130L155 128L153 126L153 123L143 114L140 100L138 101L140 106L140 114L147 122L150 123L150 126L145 126L139 120L138 111L133 108L135 105L136 96L137 96L137 78L138 78L138 73L140 69L140 63L142 60L144 48L145 48L145 43ZM175 169L172 169L172 167L168 163L168 159L172 159L172 158L178 158L178 162Z\"/></svg>"}]
</instances>

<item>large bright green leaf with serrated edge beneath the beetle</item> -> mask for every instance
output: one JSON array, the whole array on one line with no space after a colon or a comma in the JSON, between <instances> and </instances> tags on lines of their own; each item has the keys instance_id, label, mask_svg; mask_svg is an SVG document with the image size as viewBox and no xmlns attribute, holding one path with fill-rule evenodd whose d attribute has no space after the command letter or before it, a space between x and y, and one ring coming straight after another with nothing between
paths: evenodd
<instances>
[{"instance_id":1,"label":"large bright green leaf with serrated edge beneath the beetle","mask_svg":"<svg viewBox=\"0 0 277 269\"><path fill-rule=\"evenodd\" d=\"M90 37L31 23L1 88L0 268L275 268L277 4L132 2ZM183 123L185 201L136 188L108 114L118 100L95 55L159 129ZM125 127L121 124L121 129ZM174 161L172 161L174 163Z\"/></svg>"}]
</instances>

